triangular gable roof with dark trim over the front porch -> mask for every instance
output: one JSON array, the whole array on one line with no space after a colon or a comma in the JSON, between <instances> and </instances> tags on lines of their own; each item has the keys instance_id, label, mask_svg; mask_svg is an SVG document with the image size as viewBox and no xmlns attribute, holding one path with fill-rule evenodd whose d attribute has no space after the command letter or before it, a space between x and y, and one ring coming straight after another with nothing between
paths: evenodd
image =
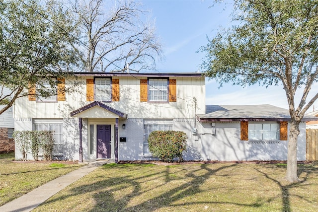
<instances>
[{"instance_id":1,"label":"triangular gable roof with dark trim over the front porch","mask_svg":"<svg viewBox=\"0 0 318 212\"><path fill-rule=\"evenodd\" d=\"M101 107L104 110L100 110ZM94 101L75 111L71 112L71 117L79 118L127 118L127 114L109 107L101 102Z\"/></svg>"}]
</instances>

